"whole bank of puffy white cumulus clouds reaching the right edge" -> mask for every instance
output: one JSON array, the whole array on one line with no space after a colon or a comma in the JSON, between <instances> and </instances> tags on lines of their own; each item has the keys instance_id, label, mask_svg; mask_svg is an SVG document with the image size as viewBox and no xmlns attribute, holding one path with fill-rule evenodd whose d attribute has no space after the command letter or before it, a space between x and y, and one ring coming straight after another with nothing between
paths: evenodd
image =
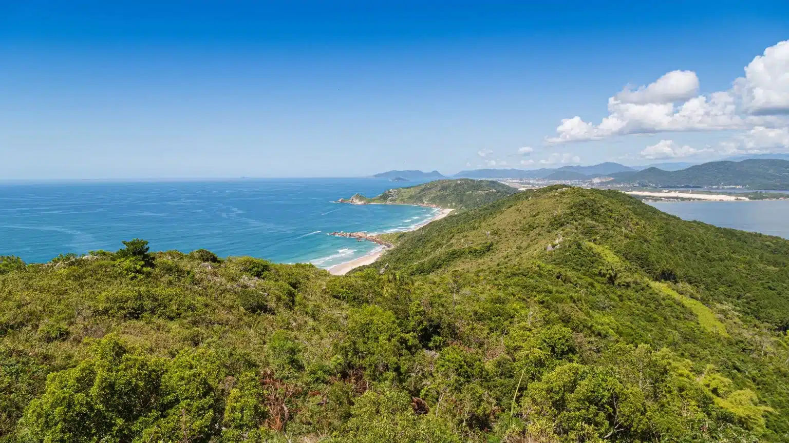
<instances>
[{"instance_id":1,"label":"whole bank of puffy white cumulus clouds reaching the right edge","mask_svg":"<svg viewBox=\"0 0 789 443\"><path fill-rule=\"evenodd\" d=\"M789 40L768 47L728 91L696 95L692 71L671 71L652 84L625 87L608 99L608 117L594 125L581 117L562 120L548 143L602 140L611 136L677 131L786 126L789 115Z\"/></svg>"}]
</instances>

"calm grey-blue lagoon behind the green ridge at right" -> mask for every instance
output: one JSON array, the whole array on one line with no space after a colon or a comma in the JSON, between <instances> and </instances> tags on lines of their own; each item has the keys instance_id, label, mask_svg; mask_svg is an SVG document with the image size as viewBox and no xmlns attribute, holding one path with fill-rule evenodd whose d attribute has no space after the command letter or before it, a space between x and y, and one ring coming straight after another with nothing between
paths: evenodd
<instances>
[{"instance_id":1,"label":"calm grey-blue lagoon behind the green ridge at right","mask_svg":"<svg viewBox=\"0 0 789 443\"><path fill-rule=\"evenodd\" d=\"M684 220L789 239L789 200L649 203Z\"/></svg>"}]
</instances>

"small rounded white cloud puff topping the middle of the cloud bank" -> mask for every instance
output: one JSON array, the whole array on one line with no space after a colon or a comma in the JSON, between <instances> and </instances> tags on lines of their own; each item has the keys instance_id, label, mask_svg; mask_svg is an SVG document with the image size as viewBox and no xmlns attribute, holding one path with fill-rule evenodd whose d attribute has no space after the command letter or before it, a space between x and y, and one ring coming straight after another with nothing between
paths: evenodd
<instances>
[{"instance_id":1,"label":"small rounded white cloud puff topping the middle of the cloud bank","mask_svg":"<svg viewBox=\"0 0 789 443\"><path fill-rule=\"evenodd\" d=\"M698 77L693 71L671 71L654 83L641 86L636 91L625 87L614 98L623 103L671 103L691 99L698 92Z\"/></svg>"}]
</instances>

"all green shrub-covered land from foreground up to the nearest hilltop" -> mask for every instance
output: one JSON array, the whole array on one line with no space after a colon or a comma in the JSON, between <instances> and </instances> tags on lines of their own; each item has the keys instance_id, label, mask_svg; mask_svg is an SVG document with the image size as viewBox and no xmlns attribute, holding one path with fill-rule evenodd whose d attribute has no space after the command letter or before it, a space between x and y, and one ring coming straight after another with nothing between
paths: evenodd
<instances>
[{"instance_id":1,"label":"all green shrub-covered land from foreground up to the nearest hilltop","mask_svg":"<svg viewBox=\"0 0 789 443\"><path fill-rule=\"evenodd\" d=\"M564 187L343 277L142 240L6 257L0 441L785 441L787 262Z\"/></svg>"}]
</instances>

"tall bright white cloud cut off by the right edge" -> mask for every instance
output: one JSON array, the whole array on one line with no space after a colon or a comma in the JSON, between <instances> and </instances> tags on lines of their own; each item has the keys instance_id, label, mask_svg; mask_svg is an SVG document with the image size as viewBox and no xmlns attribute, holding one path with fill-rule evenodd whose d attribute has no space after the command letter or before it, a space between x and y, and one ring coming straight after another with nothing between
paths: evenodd
<instances>
[{"instance_id":1,"label":"tall bright white cloud cut off by the right edge","mask_svg":"<svg viewBox=\"0 0 789 443\"><path fill-rule=\"evenodd\" d=\"M789 114L789 40L765 49L735 80L742 106L753 115Z\"/></svg>"}]
</instances>

